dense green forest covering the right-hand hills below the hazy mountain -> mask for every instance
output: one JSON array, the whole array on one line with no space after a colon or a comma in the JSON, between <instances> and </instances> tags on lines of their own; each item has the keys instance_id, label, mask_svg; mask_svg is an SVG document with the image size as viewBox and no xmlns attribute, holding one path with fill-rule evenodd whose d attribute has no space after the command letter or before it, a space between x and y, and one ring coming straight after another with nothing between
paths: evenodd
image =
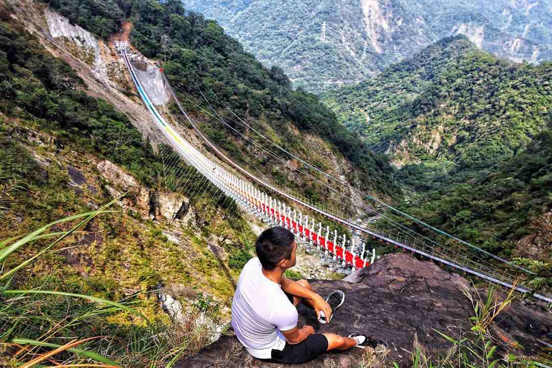
<instances>
[{"instance_id":1,"label":"dense green forest covering the right-hand hills below the hazy mountain","mask_svg":"<svg viewBox=\"0 0 552 368\"><path fill-rule=\"evenodd\" d=\"M401 210L511 258L552 207L550 80L456 36L323 100L400 166Z\"/></svg>"}]
</instances>

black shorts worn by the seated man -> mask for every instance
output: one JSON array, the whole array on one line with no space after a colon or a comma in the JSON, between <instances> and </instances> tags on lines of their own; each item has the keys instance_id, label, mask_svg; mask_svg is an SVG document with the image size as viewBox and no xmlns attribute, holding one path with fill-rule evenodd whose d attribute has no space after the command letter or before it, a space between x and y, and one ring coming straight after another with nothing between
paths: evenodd
<instances>
[{"instance_id":1,"label":"black shorts worn by the seated man","mask_svg":"<svg viewBox=\"0 0 552 368\"><path fill-rule=\"evenodd\" d=\"M284 350L272 349L271 359L262 361L283 364L299 364L315 359L328 350L328 339L322 334L314 334L302 340L299 344L285 343Z\"/></svg>"}]
</instances>

